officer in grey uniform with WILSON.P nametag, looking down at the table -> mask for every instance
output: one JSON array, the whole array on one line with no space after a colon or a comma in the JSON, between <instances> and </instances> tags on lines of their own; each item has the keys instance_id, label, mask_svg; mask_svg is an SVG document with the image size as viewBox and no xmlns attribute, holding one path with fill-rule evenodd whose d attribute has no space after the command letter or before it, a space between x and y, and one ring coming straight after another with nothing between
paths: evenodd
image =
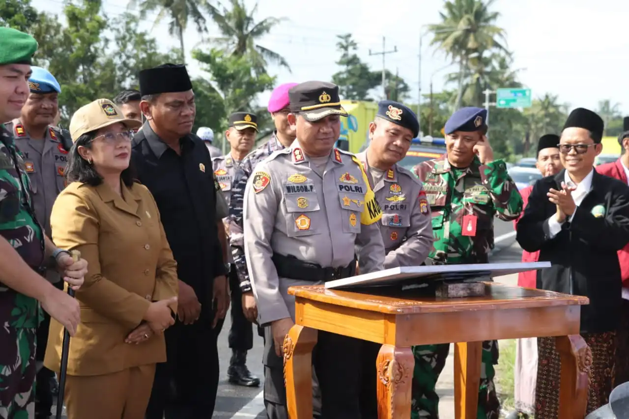
<instances>
[{"instance_id":1,"label":"officer in grey uniform with WILSON.P nametag, looking down at the table","mask_svg":"<svg viewBox=\"0 0 629 419\"><path fill-rule=\"evenodd\" d=\"M297 139L255 167L243 206L245 257L266 327L264 398L272 419L287 418L280 355L295 315L287 288L353 276L355 253L363 273L384 263L381 208L367 174L355 156L334 148L340 116L347 116L338 86L305 82L289 96ZM354 338L318 333L313 365L323 418L360 418L361 347Z\"/></svg>"}]
</instances>

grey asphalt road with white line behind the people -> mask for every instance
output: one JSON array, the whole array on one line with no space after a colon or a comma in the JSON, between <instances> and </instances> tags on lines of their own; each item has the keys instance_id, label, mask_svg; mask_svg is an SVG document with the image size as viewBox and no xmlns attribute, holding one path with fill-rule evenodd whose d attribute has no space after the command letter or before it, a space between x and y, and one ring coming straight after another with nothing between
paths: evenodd
<instances>
[{"instance_id":1,"label":"grey asphalt road with white line behind the people","mask_svg":"<svg viewBox=\"0 0 629 419\"><path fill-rule=\"evenodd\" d=\"M494 223L494 237L496 246L490 260L498 259L500 262L520 262L522 252L515 243L515 231L513 222L496 220ZM496 260L496 261L498 261ZM227 335L231 321L225 320L223 331L218 339L218 354L220 357L220 383L216 408L213 418L216 419L264 419L264 403L262 401L262 388L246 388L233 386L227 381L227 367L229 365L231 350L228 347ZM262 377L262 338L254 330L253 349L249 351L247 366L253 374ZM53 410L54 411L54 410ZM64 419L67 419L64 416Z\"/></svg>"}]
</instances>

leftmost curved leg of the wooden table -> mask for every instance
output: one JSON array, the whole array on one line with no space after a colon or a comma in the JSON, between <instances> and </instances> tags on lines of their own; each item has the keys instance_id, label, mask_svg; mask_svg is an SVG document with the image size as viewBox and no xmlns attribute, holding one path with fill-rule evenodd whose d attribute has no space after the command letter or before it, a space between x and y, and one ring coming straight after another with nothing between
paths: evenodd
<instances>
[{"instance_id":1,"label":"leftmost curved leg of the wooden table","mask_svg":"<svg viewBox=\"0 0 629 419\"><path fill-rule=\"evenodd\" d=\"M316 329L294 325L284 338L284 384L290 419L313 417L312 352Z\"/></svg>"}]
</instances>

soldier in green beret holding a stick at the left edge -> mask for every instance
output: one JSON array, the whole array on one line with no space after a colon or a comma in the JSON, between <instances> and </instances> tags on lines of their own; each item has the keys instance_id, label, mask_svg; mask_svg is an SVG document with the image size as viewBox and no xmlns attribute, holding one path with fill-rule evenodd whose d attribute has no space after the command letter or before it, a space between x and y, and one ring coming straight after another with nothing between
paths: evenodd
<instances>
[{"instance_id":1,"label":"soldier in green beret holding a stick at the left edge","mask_svg":"<svg viewBox=\"0 0 629 419\"><path fill-rule=\"evenodd\" d=\"M28 99L36 49L32 36L0 28L0 123L18 118ZM44 234L31 203L25 160L4 125L0 125L0 191L0 418L33 417L38 301L70 335L80 321L78 301L46 281L43 266L56 265L65 281L78 288L87 262L73 262Z\"/></svg>"}]
</instances>

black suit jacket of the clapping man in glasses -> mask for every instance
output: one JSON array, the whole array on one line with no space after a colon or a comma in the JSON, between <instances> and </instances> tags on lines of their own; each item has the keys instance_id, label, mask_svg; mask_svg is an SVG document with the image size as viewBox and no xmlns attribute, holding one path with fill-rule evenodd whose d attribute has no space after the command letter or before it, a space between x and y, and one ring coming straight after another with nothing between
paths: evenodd
<instances>
[{"instance_id":1,"label":"black suit jacket of the clapping man in glasses","mask_svg":"<svg viewBox=\"0 0 629 419\"><path fill-rule=\"evenodd\" d=\"M552 263L537 272L537 288L589 298L581 308L581 332L615 330L622 283L617 252L629 242L629 186L595 171L574 218L551 238L547 220L556 206L547 193L560 190L564 172L535 183L518 221L517 240L527 252L540 250L540 261Z\"/></svg>"}]
</instances>

